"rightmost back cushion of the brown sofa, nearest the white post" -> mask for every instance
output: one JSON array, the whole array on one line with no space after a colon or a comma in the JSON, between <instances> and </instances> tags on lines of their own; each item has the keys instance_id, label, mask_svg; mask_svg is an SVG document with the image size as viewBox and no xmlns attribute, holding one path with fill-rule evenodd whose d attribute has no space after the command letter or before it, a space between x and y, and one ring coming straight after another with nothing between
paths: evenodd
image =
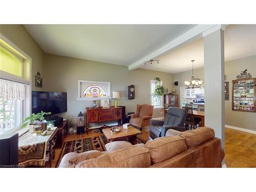
<instances>
[{"instance_id":1,"label":"rightmost back cushion of the brown sofa, nearest the white post","mask_svg":"<svg viewBox=\"0 0 256 192\"><path fill-rule=\"evenodd\" d=\"M213 129L205 126L185 131L179 136L185 139L188 148L192 148L214 138L215 133Z\"/></svg>"}]
</instances>

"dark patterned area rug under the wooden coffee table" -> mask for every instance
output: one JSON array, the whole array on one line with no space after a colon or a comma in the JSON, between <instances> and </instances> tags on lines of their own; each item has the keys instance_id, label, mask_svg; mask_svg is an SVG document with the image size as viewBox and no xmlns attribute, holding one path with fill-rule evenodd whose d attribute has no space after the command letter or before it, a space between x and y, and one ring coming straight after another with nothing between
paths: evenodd
<instances>
[{"instance_id":1,"label":"dark patterned area rug under the wooden coffee table","mask_svg":"<svg viewBox=\"0 0 256 192\"><path fill-rule=\"evenodd\" d=\"M142 139L140 136L137 136L137 143L145 144L146 140ZM62 145L62 149L55 167L58 167L62 157L70 152L82 153L91 150L103 152L106 151L105 144L106 138L104 135L66 141Z\"/></svg>"}]
</instances>

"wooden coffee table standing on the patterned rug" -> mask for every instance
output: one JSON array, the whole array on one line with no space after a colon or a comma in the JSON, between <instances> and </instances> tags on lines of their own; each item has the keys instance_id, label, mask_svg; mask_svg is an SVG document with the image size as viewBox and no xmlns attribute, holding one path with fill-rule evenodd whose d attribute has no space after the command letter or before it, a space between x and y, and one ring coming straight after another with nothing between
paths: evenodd
<instances>
[{"instance_id":1,"label":"wooden coffee table standing on the patterned rug","mask_svg":"<svg viewBox=\"0 0 256 192\"><path fill-rule=\"evenodd\" d=\"M130 126L128 129L123 129L122 126L119 126L117 129L121 130L116 133L112 133L109 129L103 129L102 132L106 137L106 142L112 141L129 141L133 145L137 144L137 135L142 134L141 131L137 130L133 126Z\"/></svg>"}]
</instances>

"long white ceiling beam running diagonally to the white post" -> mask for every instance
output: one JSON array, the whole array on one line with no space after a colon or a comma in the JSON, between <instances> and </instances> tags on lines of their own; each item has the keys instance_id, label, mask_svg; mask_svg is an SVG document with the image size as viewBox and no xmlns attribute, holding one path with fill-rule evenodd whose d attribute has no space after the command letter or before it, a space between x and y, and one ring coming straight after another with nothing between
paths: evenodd
<instances>
[{"instance_id":1,"label":"long white ceiling beam running diagonally to the white post","mask_svg":"<svg viewBox=\"0 0 256 192\"><path fill-rule=\"evenodd\" d=\"M197 25L193 29L190 29L189 31L182 34L181 36L170 41L168 44L166 44L165 46L156 50L155 52L134 62L133 64L131 64L128 67L128 69L135 70L135 69L141 67L142 65L144 65L144 62L147 60L154 59L154 58L166 53L167 51L170 51L170 50L174 51L174 50L180 48L181 46L183 46L184 44L187 44L188 42L198 40L203 37L203 35L202 35L203 32L209 30L210 28L216 28L215 26L219 26L219 25L216 25L216 24L215 25Z\"/></svg>"}]
</instances>

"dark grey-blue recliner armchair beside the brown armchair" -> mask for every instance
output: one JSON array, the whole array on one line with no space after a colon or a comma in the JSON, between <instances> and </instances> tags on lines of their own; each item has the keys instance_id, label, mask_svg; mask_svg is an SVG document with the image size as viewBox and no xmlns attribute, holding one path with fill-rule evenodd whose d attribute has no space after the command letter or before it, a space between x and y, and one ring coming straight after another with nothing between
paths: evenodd
<instances>
[{"instance_id":1,"label":"dark grey-blue recliner armchair beside the brown armchair","mask_svg":"<svg viewBox=\"0 0 256 192\"><path fill-rule=\"evenodd\" d=\"M150 137L164 137L169 129L186 131L184 126L187 111L181 108L170 106L164 119L150 120Z\"/></svg>"}]
</instances>

